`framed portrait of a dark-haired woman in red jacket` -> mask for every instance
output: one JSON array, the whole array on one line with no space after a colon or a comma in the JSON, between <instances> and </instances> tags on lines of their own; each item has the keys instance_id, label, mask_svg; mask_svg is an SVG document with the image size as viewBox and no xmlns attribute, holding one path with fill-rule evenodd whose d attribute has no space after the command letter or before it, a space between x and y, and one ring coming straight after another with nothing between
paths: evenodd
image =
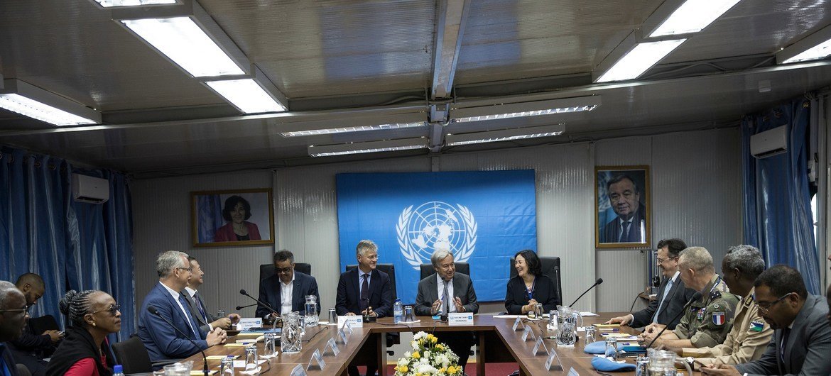
<instances>
[{"instance_id":1,"label":"framed portrait of a dark-haired woman in red jacket","mask_svg":"<svg viewBox=\"0 0 831 376\"><path fill-rule=\"evenodd\" d=\"M271 189L191 192L194 247L274 243Z\"/></svg>"}]
</instances>

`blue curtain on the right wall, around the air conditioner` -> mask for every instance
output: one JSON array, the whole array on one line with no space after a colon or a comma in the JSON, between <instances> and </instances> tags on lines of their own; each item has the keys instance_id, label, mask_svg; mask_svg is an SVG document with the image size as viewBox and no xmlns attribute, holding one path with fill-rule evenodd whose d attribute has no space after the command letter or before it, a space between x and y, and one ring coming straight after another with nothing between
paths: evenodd
<instances>
[{"instance_id":1,"label":"blue curtain on the right wall, around the air conditioner","mask_svg":"<svg viewBox=\"0 0 831 376\"><path fill-rule=\"evenodd\" d=\"M759 247L768 266L802 273L810 294L822 295L808 182L810 100L800 98L742 119L745 243ZM764 159L750 154L750 136L787 127L788 151Z\"/></svg>"}]
</instances>

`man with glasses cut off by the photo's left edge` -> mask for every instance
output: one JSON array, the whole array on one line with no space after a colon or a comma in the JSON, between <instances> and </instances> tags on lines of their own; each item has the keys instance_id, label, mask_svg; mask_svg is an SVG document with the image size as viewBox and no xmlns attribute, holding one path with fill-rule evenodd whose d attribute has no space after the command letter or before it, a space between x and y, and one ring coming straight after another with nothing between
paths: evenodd
<instances>
[{"instance_id":1,"label":"man with glasses cut off by the photo's left edge","mask_svg":"<svg viewBox=\"0 0 831 376\"><path fill-rule=\"evenodd\" d=\"M28 309L22 292L12 282L0 281L0 374L17 376L17 366L6 343L20 337Z\"/></svg>"}]
</instances>

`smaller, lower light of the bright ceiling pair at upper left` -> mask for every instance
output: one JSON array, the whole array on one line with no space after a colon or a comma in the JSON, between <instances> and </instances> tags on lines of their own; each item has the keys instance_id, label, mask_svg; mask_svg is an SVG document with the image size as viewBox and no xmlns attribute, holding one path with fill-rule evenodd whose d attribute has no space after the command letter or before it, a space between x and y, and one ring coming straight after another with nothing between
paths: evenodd
<instances>
[{"instance_id":1,"label":"smaller, lower light of the bright ceiling pair at upper left","mask_svg":"<svg viewBox=\"0 0 831 376\"><path fill-rule=\"evenodd\" d=\"M286 107L280 104L263 87L251 78L243 80L206 81L225 100L228 100L240 111L246 114L260 112L285 111Z\"/></svg>"}]
</instances>

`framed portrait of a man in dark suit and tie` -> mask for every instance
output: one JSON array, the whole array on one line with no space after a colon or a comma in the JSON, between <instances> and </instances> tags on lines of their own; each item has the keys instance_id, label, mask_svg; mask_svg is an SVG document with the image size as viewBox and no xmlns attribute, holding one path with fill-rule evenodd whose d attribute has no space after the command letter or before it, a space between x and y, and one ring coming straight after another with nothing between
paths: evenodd
<instances>
[{"instance_id":1,"label":"framed portrait of a man in dark suit and tie","mask_svg":"<svg viewBox=\"0 0 831 376\"><path fill-rule=\"evenodd\" d=\"M597 166L594 183L595 247L650 247L649 166Z\"/></svg>"}]
</instances>

